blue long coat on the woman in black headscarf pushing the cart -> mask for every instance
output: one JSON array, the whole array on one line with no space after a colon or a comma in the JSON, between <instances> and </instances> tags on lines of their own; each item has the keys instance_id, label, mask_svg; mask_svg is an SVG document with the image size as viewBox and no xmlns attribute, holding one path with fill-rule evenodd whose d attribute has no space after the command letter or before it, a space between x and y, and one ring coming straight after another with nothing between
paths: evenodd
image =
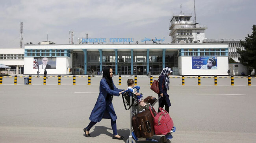
<instances>
[{"instance_id":1,"label":"blue long coat on the woman in black headscarf pushing the cart","mask_svg":"<svg viewBox=\"0 0 256 143\"><path fill-rule=\"evenodd\" d=\"M107 98L107 94L119 96L119 92L121 91L123 90L117 89L115 85L114 85L114 90L111 90L106 79L102 78L102 80L100 80L100 93L89 119L94 122L100 122L102 118L104 119L112 118L113 121L115 121L117 119L117 115L115 114L112 100L111 99L106 100L106 98Z\"/></svg>"}]
</instances>

